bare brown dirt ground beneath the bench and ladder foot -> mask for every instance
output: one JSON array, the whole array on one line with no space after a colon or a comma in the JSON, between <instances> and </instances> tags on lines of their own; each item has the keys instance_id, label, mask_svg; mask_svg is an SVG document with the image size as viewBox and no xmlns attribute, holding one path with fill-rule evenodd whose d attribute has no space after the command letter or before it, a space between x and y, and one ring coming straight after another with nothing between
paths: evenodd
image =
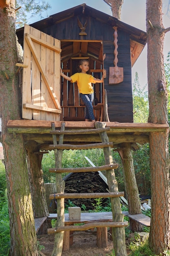
<instances>
[{"instance_id":1,"label":"bare brown dirt ground beneath the bench and ladder foot","mask_svg":"<svg viewBox=\"0 0 170 256\"><path fill-rule=\"evenodd\" d=\"M132 236L126 240L129 243L132 240ZM38 236L40 245L43 245L45 249L42 249L42 253L45 256L51 256L54 246L54 234ZM96 245L96 235L89 234L84 231L74 232L73 245L70 246L70 250L62 252L62 256L110 256L113 252L113 242L108 234L108 247L98 248Z\"/></svg>"}]
</instances>

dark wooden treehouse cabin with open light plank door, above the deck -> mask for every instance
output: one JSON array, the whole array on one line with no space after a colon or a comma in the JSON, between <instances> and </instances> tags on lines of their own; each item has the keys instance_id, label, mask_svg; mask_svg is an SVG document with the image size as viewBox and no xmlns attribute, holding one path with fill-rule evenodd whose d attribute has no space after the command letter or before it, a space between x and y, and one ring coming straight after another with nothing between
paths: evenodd
<instances>
[{"instance_id":1,"label":"dark wooden treehouse cabin with open light plank door, above the deck","mask_svg":"<svg viewBox=\"0 0 170 256\"><path fill-rule=\"evenodd\" d=\"M17 36L26 65L23 119L84 121L77 84L60 81L59 67L71 76L79 59L87 58L94 77L101 78L106 70L104 83L93 85L96 119L102 110L98 120L107 121L106 90L109 120L133 122L131 69L146 45L144 31L81 4L20 28Z\"/></svg>"}]
</instances>

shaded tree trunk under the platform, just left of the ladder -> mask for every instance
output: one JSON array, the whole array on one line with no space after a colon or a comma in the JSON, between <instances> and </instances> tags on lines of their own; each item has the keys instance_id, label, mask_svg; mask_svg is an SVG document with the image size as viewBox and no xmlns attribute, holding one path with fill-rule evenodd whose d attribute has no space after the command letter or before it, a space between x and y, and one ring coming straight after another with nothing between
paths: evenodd
<instances>
[{"instance_id":1,"label":"shaded tree trunk under the platform, just left of the ladder","mask_svg":"<svg viewBox=\"0 0 170 256\"><path fill-rule=\"evenodd\" d=\"M26 144L26 151L34 218L47 217L49 211L46 204L41 168L42 154L38 154L39 148L35 141L30 141Z\"/></svg>"}]
</instances>

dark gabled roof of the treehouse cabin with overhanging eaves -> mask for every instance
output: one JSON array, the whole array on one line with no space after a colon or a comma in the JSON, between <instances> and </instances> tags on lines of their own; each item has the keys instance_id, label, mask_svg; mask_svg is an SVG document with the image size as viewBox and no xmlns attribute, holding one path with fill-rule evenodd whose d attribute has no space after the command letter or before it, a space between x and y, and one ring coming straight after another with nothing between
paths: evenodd
<instances>
[{"instance_id":1,"label":"dark gabled roof of the treehouse cabin with overhanging eaves","mask_svg":"<svg viewBox=\"0 0 170 256\"><path fill-rule=\"evenodd\" d=\"M67 9L65 11L53 14L49 16L49 18L35 22L30 26L36 29L42 30L42 27L44 28L44 27L49 27L51 25L55 25L64 20L68 20L69 18L80 15L81 13L84 14L85 16L91 16L111 27L117 26L119 27L119 29L121 29L122 31L125 31L130 35L130 50L131 50L131 56L132 56L131 59L132 59L132 66L133 66L137 58L141 54L142 50L144 49L144 46L146 45L146 39L147 39L146 32L140 29L137 29L135 27L132 27L124 22L121 22L117 18L114 18L113 16L110 16L106 13L103 13L92 7L89 7L86 4L80 4L71 9ZM23 40L23 30L24 30L24 27L17 29L16 31L16 34L18 36L20 43Z\"/></svg>"}]
</instances>

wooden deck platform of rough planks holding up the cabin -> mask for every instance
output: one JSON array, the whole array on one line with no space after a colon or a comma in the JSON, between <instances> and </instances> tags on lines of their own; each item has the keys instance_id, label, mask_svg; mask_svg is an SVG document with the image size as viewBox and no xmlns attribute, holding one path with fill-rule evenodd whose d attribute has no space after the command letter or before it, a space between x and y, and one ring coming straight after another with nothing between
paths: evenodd
<instances>
[{"instance_id":1,"label":"wooden deck platform of rough planks holding up the cabin","mask_svg":"<svg viewBox=\"0 0 170 256\"><path fill-rule=\"evenodd\" d=\"M54 121L56 130L60 130L62 121ZM150 132L165 132L169 129L166 124L151 123L117 123L106 122L109 141L112 141L114 147L124 142L144 144L149 142ZM65 130L93 129L92 122L85 121L65 121ZM51 121L40 120L9 120L7 124L9 133L21 133L25 135L25 140L34 140L40 143L40 150L48 150L49 145L53 144L53 138L50 134ZM57 135L59 136L59 135ZM64 144L84 144L101 142L99 134L79 134L64 135Z\"/></svg>"}]
</instances>

